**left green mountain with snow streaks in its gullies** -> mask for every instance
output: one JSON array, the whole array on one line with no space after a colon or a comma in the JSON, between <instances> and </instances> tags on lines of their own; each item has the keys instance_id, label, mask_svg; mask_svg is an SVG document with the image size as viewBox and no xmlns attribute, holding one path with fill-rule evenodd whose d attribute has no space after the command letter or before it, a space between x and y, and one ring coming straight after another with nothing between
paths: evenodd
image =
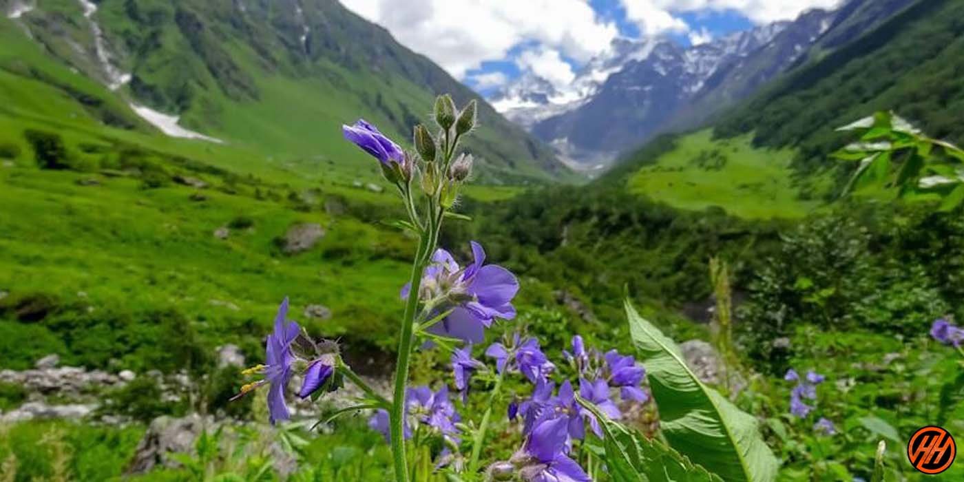
<instances>
[{"instance_id":1,"label":"left green mountain with snow streaks in its gullies","mask_svg":"<svg viewBox=\"0 0 964 482\"><path fill-rule=\"evenodd\" d=\"M335 0L0 0L0 12L8 38L32 40L25 49L100 85L74 98L92 122L273 158L361 163L362 153L342 148L341 123L365 116L402 140L427 120L435 94L460 104L478 98ZM69 75L42 75L31 54L0 65L5 86L79 90ZM9 100L13 109L35 107ZM479 100L482 128L469 150L482 159L483 180L572 176L548 147Z\"/></svg>"}]
</instances>

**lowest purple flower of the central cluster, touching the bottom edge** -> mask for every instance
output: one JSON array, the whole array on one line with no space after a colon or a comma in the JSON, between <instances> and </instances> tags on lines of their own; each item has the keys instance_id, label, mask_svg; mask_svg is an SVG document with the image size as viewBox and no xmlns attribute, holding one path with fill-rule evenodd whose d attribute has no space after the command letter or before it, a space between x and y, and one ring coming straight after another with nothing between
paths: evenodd
<instances>
[{"instance_id":1,"label":"lowest purple flower of the central cluster, touching the bottom edge","mask_svg":"<svg viewBox=\"0 0 964 482\"><path fill-rule=\"evenodd\" d=\"M586 472L566 455L568 423L565 418L550 418L529 434L525 453L533 460L520 470L526 482L590 482Z\"/></svg>"}]
</instances>

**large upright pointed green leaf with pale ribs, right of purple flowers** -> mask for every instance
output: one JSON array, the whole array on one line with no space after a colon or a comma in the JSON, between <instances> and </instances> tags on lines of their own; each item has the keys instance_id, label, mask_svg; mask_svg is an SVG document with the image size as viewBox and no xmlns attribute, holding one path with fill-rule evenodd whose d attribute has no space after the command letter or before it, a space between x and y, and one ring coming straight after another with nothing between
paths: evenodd
<instances>
[{"instance_id":1,"label":"large upright pointed green leaf with pale ribs, right of purple flowers","mask_svg":"<svg viewBox=\"0 0 964 482\"><path fill-rule=\"evenodd\" d=\"M626 312L669 444L723 480L774 480L780 464L763 442L757 418L703 385L676 343L639 316L629 300Z\"/></svg>"}]
</instances>

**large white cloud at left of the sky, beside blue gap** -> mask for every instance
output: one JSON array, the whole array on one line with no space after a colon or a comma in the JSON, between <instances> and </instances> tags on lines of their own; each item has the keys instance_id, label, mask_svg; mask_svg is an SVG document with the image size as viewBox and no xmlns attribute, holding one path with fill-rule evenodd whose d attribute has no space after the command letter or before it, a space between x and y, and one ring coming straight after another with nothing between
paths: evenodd
<instances>
[{"instance_id":1,"label":"large white cloud at left of the sky, beside blue gap","mask_svg":"<svg viewBox=\"0 0 964 482\"><path fill-rule=\"evenodd\" d=\"M577 62L605 51L618 35L587 0L341 0L402 44L458 78L533 41Z\"/></svg>"}]
</instances>

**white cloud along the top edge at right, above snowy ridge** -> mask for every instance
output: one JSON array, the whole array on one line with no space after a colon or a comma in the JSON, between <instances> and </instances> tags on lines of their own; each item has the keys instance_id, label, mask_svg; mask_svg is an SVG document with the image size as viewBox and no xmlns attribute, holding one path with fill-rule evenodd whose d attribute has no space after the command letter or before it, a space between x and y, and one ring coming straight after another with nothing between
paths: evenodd
<instances>
[{"instance_id":1,"label":"white cloud along the top edge at right, above snowy ridge","mask_svg":"<svg viewBox=\"0 0 964 482\"><path fill-rule=\"evenodd\" d=\"M833 9L843 0L621 0L626 16L648 35L687 32L673 13L735 11L756 23L791 20L810 9Z\"/></svg>"}]
</instances>

